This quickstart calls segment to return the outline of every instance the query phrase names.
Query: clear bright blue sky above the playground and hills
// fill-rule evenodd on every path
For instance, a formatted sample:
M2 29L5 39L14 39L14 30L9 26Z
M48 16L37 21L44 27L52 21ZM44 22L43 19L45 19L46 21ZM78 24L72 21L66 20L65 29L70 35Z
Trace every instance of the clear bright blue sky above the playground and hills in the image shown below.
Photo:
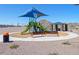
M19 17L36 8L47 14L38 18L38 21L46 19L50 22L79 23L79 6L71 4L0 4L0 24L27 24L29 19Z

